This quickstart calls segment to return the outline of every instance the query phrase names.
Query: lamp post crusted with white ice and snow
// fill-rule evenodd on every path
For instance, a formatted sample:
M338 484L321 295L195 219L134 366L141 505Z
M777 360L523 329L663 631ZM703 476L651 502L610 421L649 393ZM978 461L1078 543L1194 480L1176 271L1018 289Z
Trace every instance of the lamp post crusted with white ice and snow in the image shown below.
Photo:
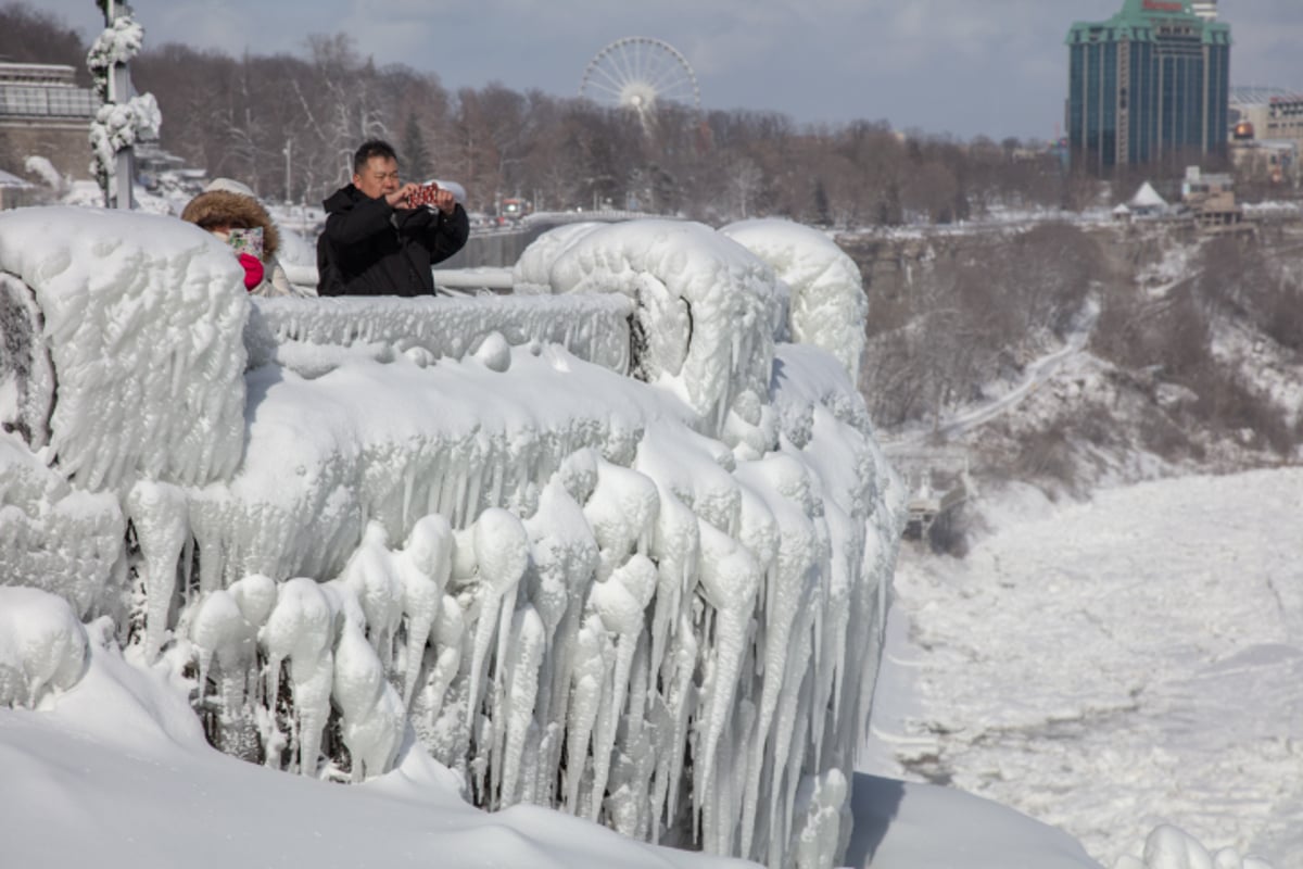
M145 40L145 29L136 23L132 9L116 0L95 0L104 13L104 31L86 55L102 106L90 125L94 159L90 171L104 190L104 202L116 208L132 207L132 180L136 176L133 146L158 138L158 103L152 94L132 95L126 64ZM124 181L125 178L125 181Z

